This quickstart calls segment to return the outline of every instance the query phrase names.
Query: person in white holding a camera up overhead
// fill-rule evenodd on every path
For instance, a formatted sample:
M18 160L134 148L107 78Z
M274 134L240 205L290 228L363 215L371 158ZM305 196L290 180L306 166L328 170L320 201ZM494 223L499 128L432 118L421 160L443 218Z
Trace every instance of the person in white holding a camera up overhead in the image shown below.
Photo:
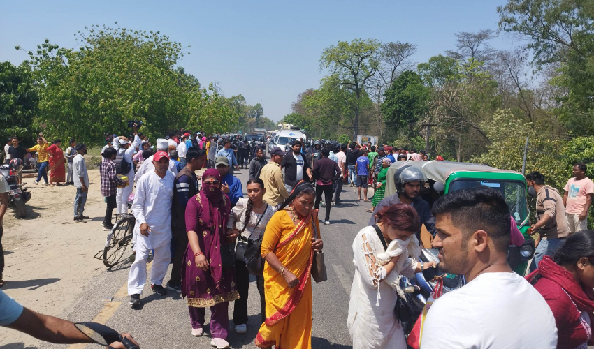
M116 165L118 165L119 162L119 168L121 169L119 170L118 174L127 176L129 183L134 182L134 168L132 166L132 156L134 155L134 151L136 151L136 148L140 146L140 138L138 138L138 124L134 122L132 126L132 129L134 131L134 142L119 139L119 150L117 151L116 156ZM128 198L132 193L133 188L134 186L117 188L115 204L117 207L118 214L125 214L128 211Z

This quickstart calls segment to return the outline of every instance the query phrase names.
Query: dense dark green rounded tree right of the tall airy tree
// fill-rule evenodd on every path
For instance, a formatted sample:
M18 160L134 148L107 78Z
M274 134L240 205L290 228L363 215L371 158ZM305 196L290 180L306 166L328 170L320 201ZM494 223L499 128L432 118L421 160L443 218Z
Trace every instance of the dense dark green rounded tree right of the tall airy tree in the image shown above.
M408 127L412 135L413 126L428 110L429 89L423 84L421 76L412 70L400 74L384 94L382 114L386 125L396 133Z

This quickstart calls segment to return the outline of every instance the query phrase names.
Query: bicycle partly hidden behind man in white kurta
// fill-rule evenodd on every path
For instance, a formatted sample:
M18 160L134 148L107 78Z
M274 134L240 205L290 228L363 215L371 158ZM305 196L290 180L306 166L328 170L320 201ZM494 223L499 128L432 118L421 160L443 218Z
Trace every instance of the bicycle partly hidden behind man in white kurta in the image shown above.
M108 268L115 267L120 263L128 245L132 242L134 225L136 225L136 218L133 214L116 214L115 219L116 223L107 236L105 247L94 256L94 258L103 260L103 264ZM102 258L99 257L101 254ZM134 255L132 254L129 259L133 262Z

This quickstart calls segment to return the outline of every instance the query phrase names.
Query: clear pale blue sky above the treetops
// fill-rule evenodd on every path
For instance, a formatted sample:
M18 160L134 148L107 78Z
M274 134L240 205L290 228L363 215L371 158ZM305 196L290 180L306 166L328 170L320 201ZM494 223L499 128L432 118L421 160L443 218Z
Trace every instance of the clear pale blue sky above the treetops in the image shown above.
M73 34L91 24L161 31L190 45L181 66L201 84L219 82L225 96L261 103L280 120L300 92L319 87L322 50L339 40L375 38L418 45L413 60L454 49L454 33L497 29L505 0L451 1L3 1L0 61L27 59L48 38L76 45ZM514 45L500 34L493 47Z

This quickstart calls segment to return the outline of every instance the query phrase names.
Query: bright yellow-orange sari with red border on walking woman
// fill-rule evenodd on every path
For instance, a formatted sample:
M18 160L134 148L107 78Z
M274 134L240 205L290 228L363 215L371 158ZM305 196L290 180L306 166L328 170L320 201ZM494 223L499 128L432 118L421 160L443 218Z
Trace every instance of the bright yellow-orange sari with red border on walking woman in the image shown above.
M312 210L312 215L297 225L291 221L289 212L278 211L266 225L262 256L275 253L299 283L289 288L284 278L265 263L266 322L256 336L256 346L260 348L312 348L312 220L319 232L317 210Z

